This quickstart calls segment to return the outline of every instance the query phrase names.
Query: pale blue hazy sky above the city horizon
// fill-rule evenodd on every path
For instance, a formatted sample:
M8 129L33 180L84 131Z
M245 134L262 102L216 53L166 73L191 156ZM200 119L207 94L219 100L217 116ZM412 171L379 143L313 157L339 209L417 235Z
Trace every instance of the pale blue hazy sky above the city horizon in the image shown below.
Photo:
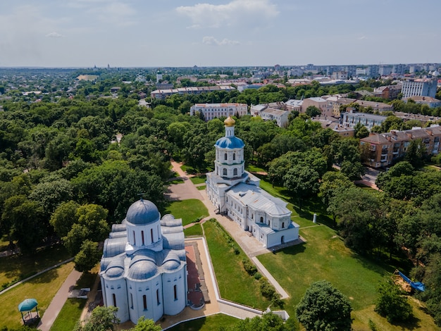
M440 0L1 0L0 67L441 62Z

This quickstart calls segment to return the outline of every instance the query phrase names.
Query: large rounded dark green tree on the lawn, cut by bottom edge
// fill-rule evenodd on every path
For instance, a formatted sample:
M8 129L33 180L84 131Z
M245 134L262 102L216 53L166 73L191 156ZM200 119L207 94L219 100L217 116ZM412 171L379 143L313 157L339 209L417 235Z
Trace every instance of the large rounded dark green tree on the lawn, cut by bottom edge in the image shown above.
M330 282L313 282L296 307L297 320L306 330L352 330L352 307Z

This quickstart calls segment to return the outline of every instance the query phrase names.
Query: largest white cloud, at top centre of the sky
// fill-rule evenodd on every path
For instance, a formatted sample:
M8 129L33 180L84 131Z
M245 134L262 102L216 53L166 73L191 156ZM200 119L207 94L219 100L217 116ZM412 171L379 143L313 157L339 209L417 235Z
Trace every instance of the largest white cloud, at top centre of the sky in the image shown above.
M195 4L180 6L176 11L192 20L191 27L261 25L278 15L271 0L233 0L228 4Z

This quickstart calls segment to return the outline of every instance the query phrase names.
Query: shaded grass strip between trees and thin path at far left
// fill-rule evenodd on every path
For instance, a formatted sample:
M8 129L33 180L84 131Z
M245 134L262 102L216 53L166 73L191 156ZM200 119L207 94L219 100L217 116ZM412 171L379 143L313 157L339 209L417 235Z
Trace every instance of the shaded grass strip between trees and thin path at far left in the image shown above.
M41 270L70 258L62 244L38 249L32 255L11 255L0 260L0 285L23 280Z

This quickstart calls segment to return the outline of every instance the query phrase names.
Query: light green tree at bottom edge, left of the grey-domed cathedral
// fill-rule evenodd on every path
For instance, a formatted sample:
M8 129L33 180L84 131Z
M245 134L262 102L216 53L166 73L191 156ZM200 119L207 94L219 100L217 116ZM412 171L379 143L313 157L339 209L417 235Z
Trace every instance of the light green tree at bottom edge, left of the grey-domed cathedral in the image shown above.
M115 316L117 311L118 308L114 306L98 306L94 308L85 325L78 323L74 331L114 331L114 324L120 322Z

